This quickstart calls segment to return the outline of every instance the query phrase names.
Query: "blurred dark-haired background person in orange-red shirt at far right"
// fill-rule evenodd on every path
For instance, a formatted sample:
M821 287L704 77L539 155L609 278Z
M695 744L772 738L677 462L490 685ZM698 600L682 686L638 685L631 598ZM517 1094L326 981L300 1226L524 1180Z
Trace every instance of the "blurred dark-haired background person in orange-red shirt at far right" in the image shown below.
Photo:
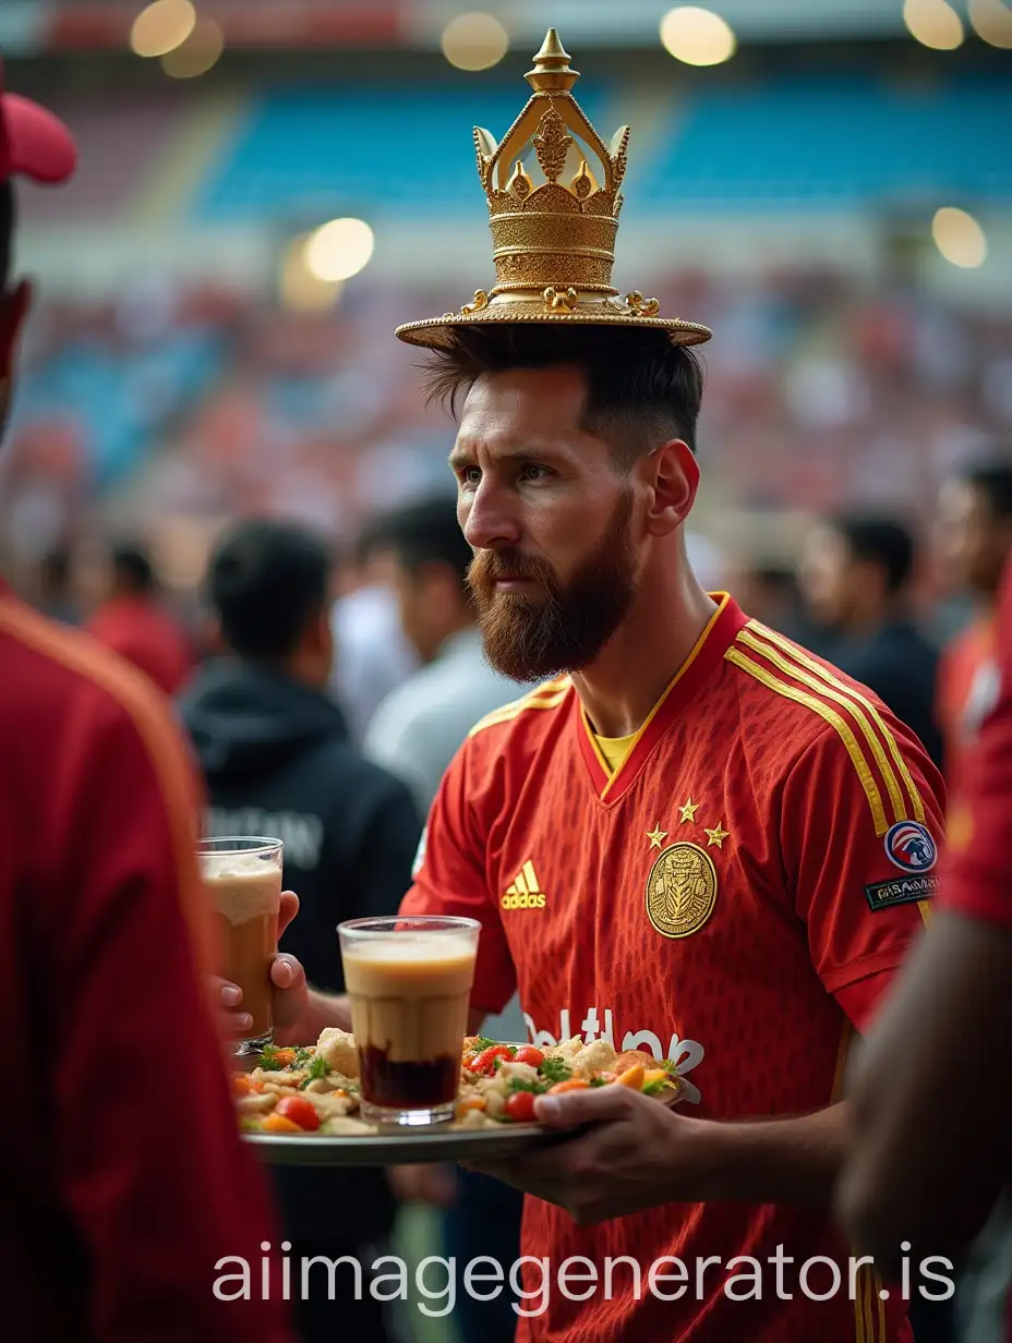
M935 717L954 796L981 706L993 689L995 608L1012 553L1012 461L974 463L945 481L938 496L938 548L946 576L977 603L969 623L942 650L938 667Z

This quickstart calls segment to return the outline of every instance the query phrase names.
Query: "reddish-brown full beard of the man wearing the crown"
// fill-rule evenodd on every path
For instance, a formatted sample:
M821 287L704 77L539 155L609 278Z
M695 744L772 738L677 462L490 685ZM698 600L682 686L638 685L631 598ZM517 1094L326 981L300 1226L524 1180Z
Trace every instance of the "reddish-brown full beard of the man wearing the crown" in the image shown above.
M591 663L636 596L637 556L629 533L632 490L607 530L562 584L546 560L515 549L480 551L468 571L485 657L513 681L544 681ZM504 579L534 579L538 592L497 592Z

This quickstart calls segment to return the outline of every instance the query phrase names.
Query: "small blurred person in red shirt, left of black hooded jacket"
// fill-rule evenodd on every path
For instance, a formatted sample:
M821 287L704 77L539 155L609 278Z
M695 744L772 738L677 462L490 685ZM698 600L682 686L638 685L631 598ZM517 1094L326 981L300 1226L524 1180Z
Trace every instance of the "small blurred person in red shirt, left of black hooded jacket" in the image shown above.
M113 547L109 596L85 629L145 672L165 694L176 694L194 667L191 643L161 604L155 567L140 545Z

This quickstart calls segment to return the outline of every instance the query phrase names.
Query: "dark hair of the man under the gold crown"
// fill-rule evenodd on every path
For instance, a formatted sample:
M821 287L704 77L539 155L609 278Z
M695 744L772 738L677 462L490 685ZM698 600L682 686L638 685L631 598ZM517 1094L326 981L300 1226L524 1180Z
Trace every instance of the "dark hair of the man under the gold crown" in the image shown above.
M564 364L583 369L583 427L610 443L620 467L628 470L669 438L696 450L703 371L695 353L672 345L663 330L523 322L457 328L453 346L434 351L426 365L427 399L456 414L460 393L484 373Z

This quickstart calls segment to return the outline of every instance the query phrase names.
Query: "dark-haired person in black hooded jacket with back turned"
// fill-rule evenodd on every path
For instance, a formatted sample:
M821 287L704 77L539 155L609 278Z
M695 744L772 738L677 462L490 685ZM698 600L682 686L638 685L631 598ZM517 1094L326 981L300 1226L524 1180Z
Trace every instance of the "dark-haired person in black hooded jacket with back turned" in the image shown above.
M411 884L422 821L407 787L348 740L325 693L333 659L331 559L312 533L245 520L215 545L206 580L224 655L179 701L208 795L208 834L284 841L285 885L300 913L281 950L310 982L344 988L337 924L395 913ZM314 1268L301 1296L300 1256L351 1254L363 1269L390 1234L395 1197L382 1170L280 1167L276 1189L292 1241L293 1297L305 1343L349 1328L383 1343L382 1307L353 1300L351 1269ZM317 1275L316 1279L313 1275Z

